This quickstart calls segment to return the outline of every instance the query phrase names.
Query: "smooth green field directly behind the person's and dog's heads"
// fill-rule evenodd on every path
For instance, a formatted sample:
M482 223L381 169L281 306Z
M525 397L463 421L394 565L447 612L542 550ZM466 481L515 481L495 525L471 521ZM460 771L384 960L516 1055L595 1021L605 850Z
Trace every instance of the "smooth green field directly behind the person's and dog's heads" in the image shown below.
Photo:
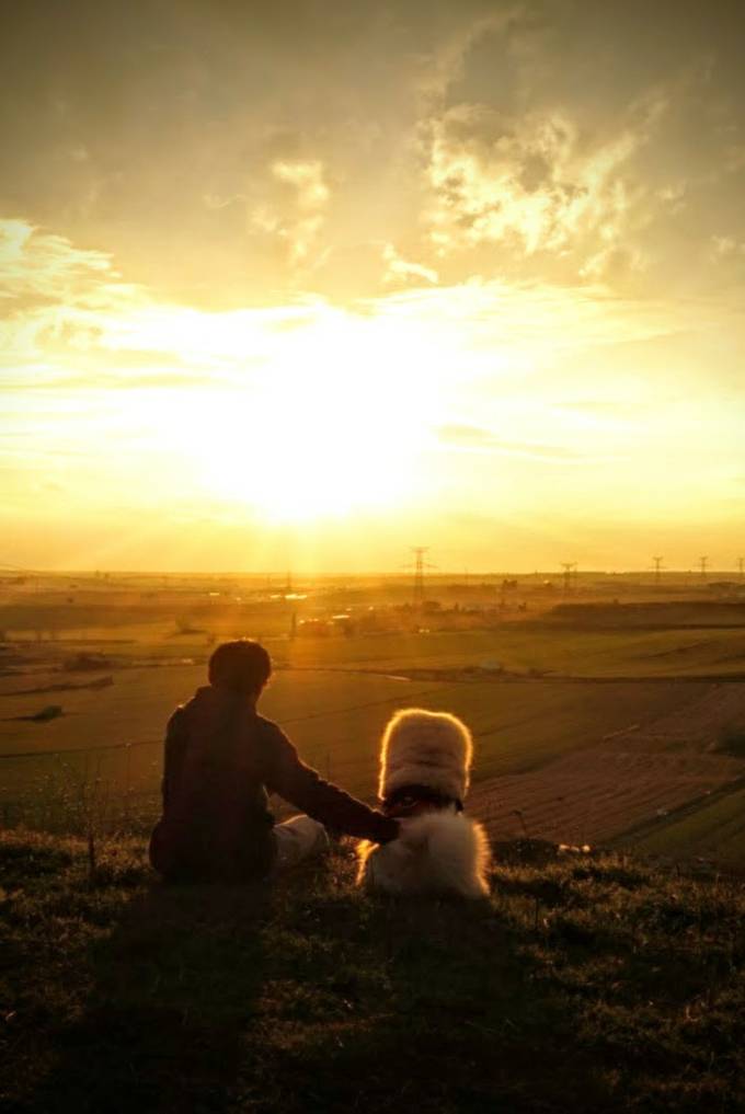
M164 725L177 703L204 680L203 666L128 670L102 690L0 697L2 752L75 751L136 743L130 751L102 751L99 773L137 791L157 785ZM696 691L698 683L693 686ZM604 734L661 713L679 687L639 683L581 685L561 681L427 682L380 674L281 671L262 700L305 759L352 792L371 797L382 729L396 707L424 705L463 717L478 736L474 779L533 769ZM690 695L690 694L688 694ZM65 714L49 723L13 722L50 701ZM139 745L151 741L151 745ZM92 755L91 755L92 761ZM29 756L0 766L4 795L45 776L50 760ZM128 766L128 769L127 769Z

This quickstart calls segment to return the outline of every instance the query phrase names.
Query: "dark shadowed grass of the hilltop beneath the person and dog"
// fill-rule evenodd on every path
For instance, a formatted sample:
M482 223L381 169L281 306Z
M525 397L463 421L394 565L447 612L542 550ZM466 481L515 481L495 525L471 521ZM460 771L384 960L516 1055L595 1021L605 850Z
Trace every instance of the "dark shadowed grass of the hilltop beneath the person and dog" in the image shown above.
M166 888L119 842L91 883L22 832L0 866L2 1111L745 1108L734 882L510 848L491 901L402 902L342 844L272 890Z

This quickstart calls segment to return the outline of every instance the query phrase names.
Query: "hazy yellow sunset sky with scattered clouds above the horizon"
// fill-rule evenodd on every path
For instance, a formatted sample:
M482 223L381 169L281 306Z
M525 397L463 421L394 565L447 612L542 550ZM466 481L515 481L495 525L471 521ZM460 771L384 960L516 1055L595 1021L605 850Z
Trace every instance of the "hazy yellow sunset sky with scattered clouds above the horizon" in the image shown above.
M745 551L745 6L27 2L0 563Z

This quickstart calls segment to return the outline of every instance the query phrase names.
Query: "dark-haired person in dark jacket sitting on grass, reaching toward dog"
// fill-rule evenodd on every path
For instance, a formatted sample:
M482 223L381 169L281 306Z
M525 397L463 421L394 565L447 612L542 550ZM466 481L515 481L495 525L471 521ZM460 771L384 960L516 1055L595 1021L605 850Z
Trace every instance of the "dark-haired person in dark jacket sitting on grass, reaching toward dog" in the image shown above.
M324 781L276 723L256 712L272 673L257 642L226 642L209 684L177 707L166 733L163 815L150 862L168 881L248 881L320 854L324 825L386 843L398 821ZM305 815L275 824L267 792Z

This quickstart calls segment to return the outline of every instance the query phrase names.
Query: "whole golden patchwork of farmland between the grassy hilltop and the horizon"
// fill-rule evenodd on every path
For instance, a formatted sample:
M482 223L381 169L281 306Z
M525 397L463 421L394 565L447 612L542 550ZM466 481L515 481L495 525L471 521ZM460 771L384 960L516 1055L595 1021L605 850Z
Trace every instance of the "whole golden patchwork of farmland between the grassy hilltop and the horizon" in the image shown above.
M32 600L12 606L17 619L24 613L32 622ZM728 858L735 853L729 832L738 798L721 824L719 812L706 809L700 822L668 822L682 802L700 798L705 805L707 790L718 792L745 769L737 759L723 766L714 758L726 731L745 723L745 628L721 626L721 610L712 612L709 627L695 629L643 628L638 606L626 626L624 609L611 608L619 617L612 628L578 625L571 609L439 628L445 619L463 622L463 613L451 610L420 616L419 629L295 638L283 633L290 612L282 603L241 605L219 622L203 607L215 620L199 625L200 613L194 629L178 627L177 593L157 615L150 610L124 590L108 607L47 600L36 622L50 624L53 638L0 644L0 752L26 755L0 758L6 824L63 829L71 802L92 784L112 802L112 814L124 810L127 823L151 824L168 715L204 683L215 641L248 635L265 639L276 666L264 714L285 727L306 761L366 800L374 797L386 720L419 704L454 712L474 733L474 808L489 823L503 799L499 824L525 812L537 834L572 840L581 828L589 839L595 829L602 838L621 836L628 800L629 834L646 824L645 846L658 841L693 854L721 843ZM678 610L686 618L685 605ZM700 604L694 610L700 619ZM84 618L99 626L84 632ZM70 671L80 653L105 659L99 670ZM102 677L110 678L107 687L86 687ZM29 719L52 704L61 706L59 717ZM605 813L612 821L601 822Z

